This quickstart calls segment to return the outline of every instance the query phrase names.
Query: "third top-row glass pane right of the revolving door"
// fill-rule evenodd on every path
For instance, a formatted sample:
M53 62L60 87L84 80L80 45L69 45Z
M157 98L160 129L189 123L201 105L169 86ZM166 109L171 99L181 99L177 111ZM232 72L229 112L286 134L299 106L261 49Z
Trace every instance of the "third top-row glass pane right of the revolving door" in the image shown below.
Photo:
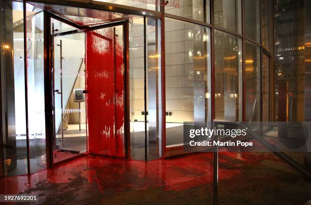
M260 0L244 1L245 36L260 42Z

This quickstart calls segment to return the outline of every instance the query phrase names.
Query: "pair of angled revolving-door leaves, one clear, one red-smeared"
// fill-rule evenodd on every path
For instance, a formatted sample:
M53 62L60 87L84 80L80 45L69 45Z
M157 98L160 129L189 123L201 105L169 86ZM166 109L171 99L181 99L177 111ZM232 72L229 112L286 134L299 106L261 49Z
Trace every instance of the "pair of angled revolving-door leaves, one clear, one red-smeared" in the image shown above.
M81 30L55 18L53 163L86 151L126 157L124 22Z

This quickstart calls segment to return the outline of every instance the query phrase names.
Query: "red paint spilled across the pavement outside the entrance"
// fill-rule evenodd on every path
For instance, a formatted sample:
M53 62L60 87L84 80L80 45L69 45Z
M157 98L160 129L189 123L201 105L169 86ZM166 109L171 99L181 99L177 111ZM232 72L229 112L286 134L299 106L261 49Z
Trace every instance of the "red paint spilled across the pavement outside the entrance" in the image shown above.
M252 166L269 153L220 152L219 179L242 174L245 163ZM135 161L112 157L82 156L50 170L30 176L0 179L1 194L38 194L40 201L58 202L110 196L127 191L166 186L183 190L212 183L213 153L194 153L168 159Z

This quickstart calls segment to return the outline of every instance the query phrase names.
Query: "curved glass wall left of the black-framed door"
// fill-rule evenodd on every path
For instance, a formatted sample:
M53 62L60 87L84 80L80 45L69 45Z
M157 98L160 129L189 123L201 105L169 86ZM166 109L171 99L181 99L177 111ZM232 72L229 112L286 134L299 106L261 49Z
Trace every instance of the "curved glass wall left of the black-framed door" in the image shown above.
M3 150L4 175L21 175L28 171L35 173L46 168L43 11L26 4L24 24L22 2L1 1L1 7L1 23L7 31L2 35L4 39L1 39L1 43L4 44L1 48L5 49L1 52L1 70L6 73L2 74L1 79L2 88L5 89L2 90L2 94L5 94L2 95L2 110L4 113L9 111L8 114L2 115L7 118L7 122L3 121L1 139L7 147Z

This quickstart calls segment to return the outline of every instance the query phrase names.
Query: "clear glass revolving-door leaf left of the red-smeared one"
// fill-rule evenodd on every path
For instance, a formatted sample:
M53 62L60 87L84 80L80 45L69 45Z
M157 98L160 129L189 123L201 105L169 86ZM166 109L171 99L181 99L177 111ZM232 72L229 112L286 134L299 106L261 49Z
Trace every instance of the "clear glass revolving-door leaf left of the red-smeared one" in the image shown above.
M53 162L87 150L85 33L51 19L53 76Z

